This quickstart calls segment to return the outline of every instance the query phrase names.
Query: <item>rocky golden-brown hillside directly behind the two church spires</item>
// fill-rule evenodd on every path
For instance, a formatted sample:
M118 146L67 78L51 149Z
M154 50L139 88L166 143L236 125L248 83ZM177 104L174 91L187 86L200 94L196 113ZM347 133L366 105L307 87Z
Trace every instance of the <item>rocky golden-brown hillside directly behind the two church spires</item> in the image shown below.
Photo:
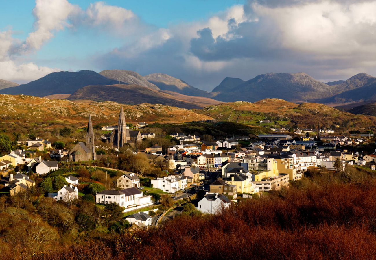
M116 102L76 103L27 95L0 95L3 122L69 122L85 124L89 114L96 124L115 124L120 107L129 122L191 122L209 119L193 111L162 104L121 105Z

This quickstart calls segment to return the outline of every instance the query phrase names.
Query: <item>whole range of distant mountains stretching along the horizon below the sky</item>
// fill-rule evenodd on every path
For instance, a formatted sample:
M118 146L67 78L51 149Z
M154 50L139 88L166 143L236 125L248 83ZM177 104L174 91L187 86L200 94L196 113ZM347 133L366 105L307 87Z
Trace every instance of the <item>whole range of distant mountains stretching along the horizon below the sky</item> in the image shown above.
M6 84L4 86L9 86ZM267 73L247 81L226 77L211 92L195 88L167 74L141 76L126 70L104 70L100 73L62 71L27 84L11 85L1 89L0 82L0 94L50 96L71 100L111 100L128 104L150 102L188 109L220 102L255 102L264 98L324 104L363 101L370 103L376 100L376 78L366 73L356 74L348 80L327 83L315 80L306 73ZM70 97L67 97L68 95Z

